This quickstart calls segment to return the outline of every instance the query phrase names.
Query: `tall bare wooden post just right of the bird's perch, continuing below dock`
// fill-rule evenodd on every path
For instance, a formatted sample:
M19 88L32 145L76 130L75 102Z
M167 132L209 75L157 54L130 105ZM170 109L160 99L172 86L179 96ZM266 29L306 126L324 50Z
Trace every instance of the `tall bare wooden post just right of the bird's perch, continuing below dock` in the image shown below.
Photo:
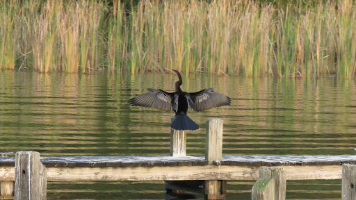
M223 120L207 120L205 160L209 165L219 165L223 158ZM205 199L224 199L227 181L207 180L204 183Z

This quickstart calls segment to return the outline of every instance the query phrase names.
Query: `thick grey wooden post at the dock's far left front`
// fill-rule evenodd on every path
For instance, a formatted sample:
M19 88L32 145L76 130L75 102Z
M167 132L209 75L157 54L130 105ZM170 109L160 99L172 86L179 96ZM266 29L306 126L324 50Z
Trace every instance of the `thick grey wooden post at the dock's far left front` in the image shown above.
M40 153L17 151L15 156L15 200L47 199L47 169Z

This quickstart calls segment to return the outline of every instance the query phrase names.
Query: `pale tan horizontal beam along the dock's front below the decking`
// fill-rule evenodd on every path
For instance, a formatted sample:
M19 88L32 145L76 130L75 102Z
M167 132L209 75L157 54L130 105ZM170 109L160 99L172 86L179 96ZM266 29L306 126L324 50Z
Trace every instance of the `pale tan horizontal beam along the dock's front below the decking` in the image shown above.
M342 171L341 165L283 168L286 180L341 179ZM254 166L47 167L48 181L257 180L258 176L259 167ZM0 167L0 177L14 181L15 167Z

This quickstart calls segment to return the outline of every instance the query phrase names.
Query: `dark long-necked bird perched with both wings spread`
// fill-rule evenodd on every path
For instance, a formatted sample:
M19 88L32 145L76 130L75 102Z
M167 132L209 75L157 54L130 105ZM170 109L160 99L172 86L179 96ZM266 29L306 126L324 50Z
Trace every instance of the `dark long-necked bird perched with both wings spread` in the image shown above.
M175 82L175 92L165 92L148 88L148 93L140 94L129 100L131 106L157 108L166 112L175 111L175 120L170 127L177 131L195 131L199 128L191 118L186 115L188 108L196 112L210 108L230 105L231 99L224 94L214 92L213 88L199 92L184 92L181 90L181 74L175 69L169 69L177 74L179 81Z

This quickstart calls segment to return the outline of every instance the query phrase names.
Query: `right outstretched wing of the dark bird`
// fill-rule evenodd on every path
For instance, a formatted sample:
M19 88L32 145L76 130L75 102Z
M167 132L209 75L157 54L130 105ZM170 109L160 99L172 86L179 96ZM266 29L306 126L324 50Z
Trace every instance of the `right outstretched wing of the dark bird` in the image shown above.
M224 94L214 92L213 88L204 89L199 92L189 93L191 100L193 101L193 110L203 111L210 108L228 106L231 103L231 99Z

